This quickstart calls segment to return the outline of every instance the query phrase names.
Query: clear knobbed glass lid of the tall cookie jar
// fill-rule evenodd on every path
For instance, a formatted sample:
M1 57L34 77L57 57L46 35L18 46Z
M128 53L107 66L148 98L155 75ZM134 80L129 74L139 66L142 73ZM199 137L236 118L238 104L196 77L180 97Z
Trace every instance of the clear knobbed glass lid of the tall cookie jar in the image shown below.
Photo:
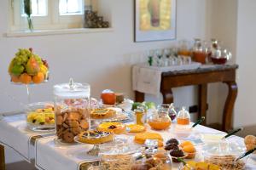
M63 99L90 98L90 85L74 82L73 78L70 78L68 83L56 84L54 94Z

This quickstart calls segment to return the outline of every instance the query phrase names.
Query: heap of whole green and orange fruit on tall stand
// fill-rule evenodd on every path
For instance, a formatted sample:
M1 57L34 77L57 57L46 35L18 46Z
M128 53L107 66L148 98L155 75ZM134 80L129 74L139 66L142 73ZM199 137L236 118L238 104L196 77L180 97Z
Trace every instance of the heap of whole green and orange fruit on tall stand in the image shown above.
M32 48L20 48L9 64L11 82L15 84L39 84L49 80L49 65L34 54Z

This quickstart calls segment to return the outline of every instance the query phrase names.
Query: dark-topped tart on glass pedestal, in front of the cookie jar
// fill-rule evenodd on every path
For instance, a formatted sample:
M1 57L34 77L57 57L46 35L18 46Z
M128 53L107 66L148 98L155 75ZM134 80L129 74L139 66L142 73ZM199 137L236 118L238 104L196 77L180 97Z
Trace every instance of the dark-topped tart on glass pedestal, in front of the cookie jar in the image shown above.
M113 140L113 133L88 130L79 133L78 140L85 144L103 144Z

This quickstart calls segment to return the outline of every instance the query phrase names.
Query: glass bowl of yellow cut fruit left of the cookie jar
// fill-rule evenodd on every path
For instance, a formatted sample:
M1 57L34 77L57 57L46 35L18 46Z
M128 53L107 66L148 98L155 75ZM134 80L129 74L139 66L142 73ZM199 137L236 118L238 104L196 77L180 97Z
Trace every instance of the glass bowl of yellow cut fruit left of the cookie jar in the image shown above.
M54 106L51 102L38 102L26 106L26 123L32 131L55 129Z

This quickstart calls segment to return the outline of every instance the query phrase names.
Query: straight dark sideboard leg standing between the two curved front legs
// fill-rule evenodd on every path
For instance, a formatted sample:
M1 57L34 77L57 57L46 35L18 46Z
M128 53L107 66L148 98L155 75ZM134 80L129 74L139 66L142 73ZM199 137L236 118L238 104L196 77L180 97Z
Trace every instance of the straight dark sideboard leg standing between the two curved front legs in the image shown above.
M198 96L198 118L205 116L206 120L201 123L201 125L207 124L207 84L199 85L199 96Z

